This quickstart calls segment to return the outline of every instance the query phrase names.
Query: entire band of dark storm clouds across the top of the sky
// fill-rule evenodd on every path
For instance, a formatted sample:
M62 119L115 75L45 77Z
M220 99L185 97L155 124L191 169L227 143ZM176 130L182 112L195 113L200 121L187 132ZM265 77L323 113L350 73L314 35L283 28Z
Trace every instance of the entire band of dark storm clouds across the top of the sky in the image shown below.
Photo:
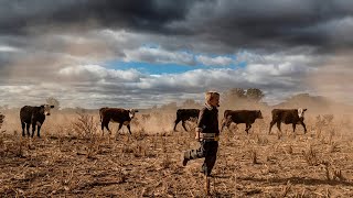
M165 43L167 48L197 48L181 41L192 38L224 52L301 45L328 50L352 46L352 13L353 2L344 0L1 1L0 34L127 29L183 36L172 46ZM346 26L343 35L333 33Z

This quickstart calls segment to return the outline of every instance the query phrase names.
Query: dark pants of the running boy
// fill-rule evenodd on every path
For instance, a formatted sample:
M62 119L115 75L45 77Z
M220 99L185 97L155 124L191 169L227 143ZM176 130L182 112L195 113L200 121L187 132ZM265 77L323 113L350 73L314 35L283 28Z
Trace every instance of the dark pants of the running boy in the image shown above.
M201 141L197 150L190 150L184 153L186 160L203 158L205 161L202 165L202 172L210 176L214 164L216 163L218 151L217 141Z

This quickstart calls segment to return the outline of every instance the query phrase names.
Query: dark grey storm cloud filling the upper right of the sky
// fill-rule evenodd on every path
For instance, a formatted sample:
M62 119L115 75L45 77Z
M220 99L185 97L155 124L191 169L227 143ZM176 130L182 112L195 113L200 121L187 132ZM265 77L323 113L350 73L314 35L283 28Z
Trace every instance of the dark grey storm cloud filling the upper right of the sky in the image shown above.
M340 47L353 40L342 41L332 32L347 25L335 26L352 16L352 8L351 1L223 0L196 6L185 26L194 26L204 40L243 48Z

